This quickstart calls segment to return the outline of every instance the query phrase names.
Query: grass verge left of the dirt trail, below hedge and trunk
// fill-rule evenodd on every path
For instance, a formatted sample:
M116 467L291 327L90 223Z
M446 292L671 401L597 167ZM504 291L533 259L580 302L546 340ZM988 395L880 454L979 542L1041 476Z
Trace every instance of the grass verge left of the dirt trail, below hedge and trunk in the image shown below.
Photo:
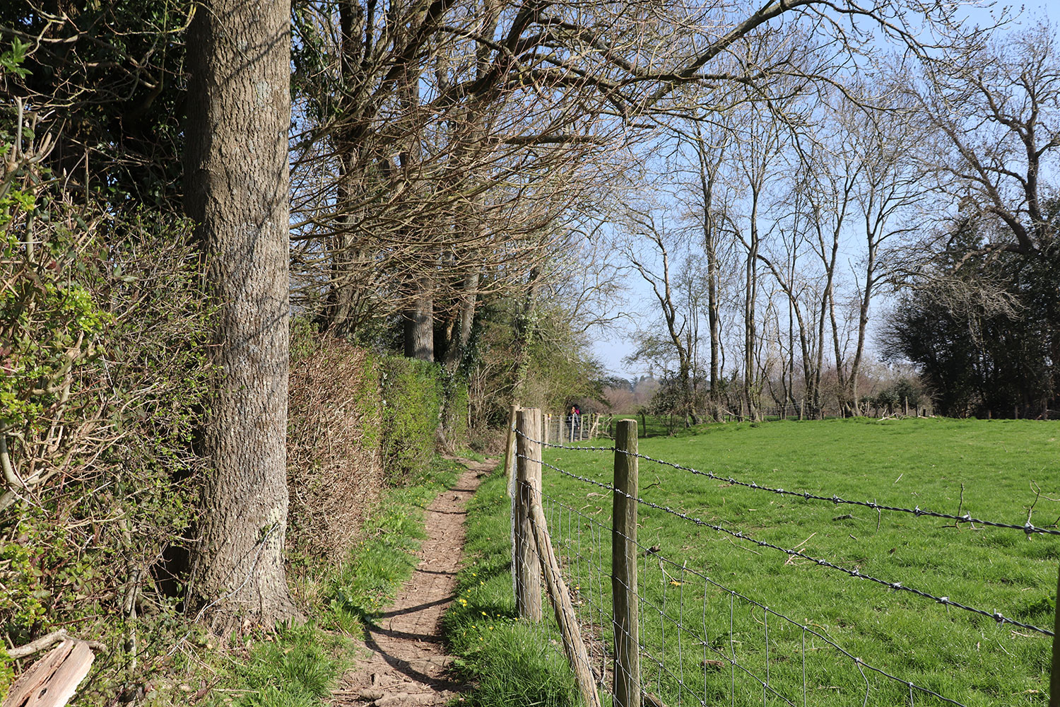
M462 466L437 459L410 487L385 494L365 524L364 540L338 566L299 563L288 575L307 622L252 633L218 647L194 633L174 651L172 670L145 704L204 707L316 707L331 694L356 652L354 639L416 567L424 512Z

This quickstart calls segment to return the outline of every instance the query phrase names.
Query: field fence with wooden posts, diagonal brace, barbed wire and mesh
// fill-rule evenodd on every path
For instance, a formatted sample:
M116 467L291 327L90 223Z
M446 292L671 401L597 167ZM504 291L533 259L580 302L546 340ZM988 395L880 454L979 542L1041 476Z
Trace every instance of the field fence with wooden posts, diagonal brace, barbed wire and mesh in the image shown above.
M1053 626L1035 625L993 607L973 606L917 586L862 572L856 565L848 567L837 561L814 556L798 546L784 548L641 497L643 490L638 482L638 470L641 460L651 461L762 494L797 496L805 501L833 506L853 505L870 509L878 515L929 516L957 525L979 525L1027 535L1056 536L1060 535L1060 529L1035 526L1029 514L1026 523L1017 525L972 517L960 514L959 510L951 514L919 506L902 508L876 500L850 500L837 495L759 485L641 454L635 420L617 421L613 445L597 446L578 444L578 437L571 441L549 434L549 418L537 409L513 406L511 410L506 471L512 499L513 590L519 617L541 622L544 584L562 637L563 652L582 700L589 707L601 704L601 693L613 707L736 705L738 681L743 686L741 694L746 694L748 684L760 690L763 706L805 706L810 704L808 685L822 678L814 674L819 668L813 665L812 658L808 660L808 656L817 655L817 652L830 653L847 666L850 675L860 676L863 682L863 685L859 682L862 686L856 690L850 686L844 688L845 694L856 692L855 697L844 704L862 707L883 704L872 701L873 690L877 691L874 696L882 694L879 692L882 685L890 695L887 704L966 707L937 686L894 674L871 660L863 660L854 649L842 644L825 628L770 606L746 589L729 586L724 578L705 568L689 566L687 560L666 556L658 545L642 543L637 532L640 509L666 513L683 523L714 530L756 553L780 552L787 555L789 563L799 560L849 579L877 583L887 590L904 593L911 601L932 602L948 611L984 617L1027 637L1052 637L1048 706L1060 707L1060 614L1055 607ZM554 419L551 422L552 431L563 431L563 421L559 430ZM594 428L601 429L599 422ZM543 455L548 448L611 454L612 480L587 478L551 464ZM593 502L576 508L577 503L544 489L542 472L545 469L585 484L590 489L587 497L591 497ZM605 512L608 505L610 514ZM1060 573L1057 585L1060 594ZM737 638L746 637L752 630L760 636L760 648L748 649ZM784 655L777 652L779 642L774 637L778 635L783 635L785 644L793 647ZM825 687L838 689L827 681ZM669 702L664 702L660 694L667 695ZM900 700L896 696L899 694Z

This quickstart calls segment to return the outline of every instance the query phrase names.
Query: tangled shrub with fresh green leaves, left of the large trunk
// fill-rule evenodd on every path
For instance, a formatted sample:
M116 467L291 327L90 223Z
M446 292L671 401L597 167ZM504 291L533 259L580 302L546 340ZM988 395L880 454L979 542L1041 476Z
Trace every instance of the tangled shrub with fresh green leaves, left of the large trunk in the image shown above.
M0 636L110 644L83 697L104 702L174 632L210 310L187 223L74 201L20 137L0 166Z

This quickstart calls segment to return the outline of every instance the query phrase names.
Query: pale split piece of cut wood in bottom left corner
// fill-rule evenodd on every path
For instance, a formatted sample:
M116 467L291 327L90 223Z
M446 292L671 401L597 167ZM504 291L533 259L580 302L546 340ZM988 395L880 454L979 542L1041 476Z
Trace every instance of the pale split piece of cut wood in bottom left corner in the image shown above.
M64 640L15 681L3 707L64 707L94 659L86 641Z

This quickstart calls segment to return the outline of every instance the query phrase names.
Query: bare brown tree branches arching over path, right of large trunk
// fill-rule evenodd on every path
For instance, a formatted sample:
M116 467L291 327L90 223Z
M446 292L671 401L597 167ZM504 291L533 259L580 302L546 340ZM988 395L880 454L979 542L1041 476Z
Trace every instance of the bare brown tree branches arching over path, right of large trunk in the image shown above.
M341 334L404 312L423 342L410 339L408 351L426 356L428 330L445 332L453 366L483 294L476 283L495 269L519 287L550 257L525 248L523 236L562 225L572 202L595 195L591 176L616 172L608 143L636 140L643 117L684 110L681 87L700 86L708 105L723 107L734 87L774 75L826 79L795 60L799 42L729 58L781 35L781 17L842 48L864 39L860 19L912 41L907 13L939 15L889 0L300 3L299 302L321 308L322 323ZM538 209L524 208L534 198ZM507 267L513 250L527 259L520 268ZM443 325L427 325L439 318Z

